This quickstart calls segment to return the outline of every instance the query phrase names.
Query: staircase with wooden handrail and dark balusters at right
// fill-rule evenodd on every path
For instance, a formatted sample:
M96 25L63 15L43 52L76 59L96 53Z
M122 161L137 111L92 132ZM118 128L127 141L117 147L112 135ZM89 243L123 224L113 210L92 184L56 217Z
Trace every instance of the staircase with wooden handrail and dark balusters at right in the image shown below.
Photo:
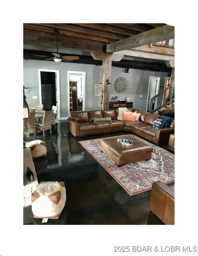
M174 110L175 109L175 89L173 85L168 86L166 89L151 98L149 112L154 113L158 110ZM161 112L161 111L159 111Z

